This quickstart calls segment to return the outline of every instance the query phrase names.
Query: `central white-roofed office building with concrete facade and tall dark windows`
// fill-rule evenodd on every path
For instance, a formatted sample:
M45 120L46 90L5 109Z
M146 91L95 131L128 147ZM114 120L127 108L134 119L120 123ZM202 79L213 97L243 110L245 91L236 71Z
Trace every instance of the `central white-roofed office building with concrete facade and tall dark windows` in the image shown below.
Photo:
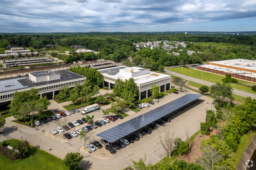
M161 92L171 88L171 76L151 72L141 67L112 67L99 70L104 77L104 86L113 88L115 81L120 78L122 81L133 78L139 89L139 99L148 98L151 95L150 89L153 84L160 86Z

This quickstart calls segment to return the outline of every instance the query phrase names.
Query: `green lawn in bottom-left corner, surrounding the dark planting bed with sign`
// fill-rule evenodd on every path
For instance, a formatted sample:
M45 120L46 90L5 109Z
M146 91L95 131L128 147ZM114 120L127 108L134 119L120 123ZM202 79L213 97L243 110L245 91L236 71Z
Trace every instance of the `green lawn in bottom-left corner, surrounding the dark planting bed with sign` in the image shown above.
M6 145L14 146L19 140L10 139L6 141ZM10 160L0 154L0 167L2 170L9 169L28 169L28 167L36 167L36 169L67 169L63 160L53 156L41 149L36 149L30 145L32 152L25 159ZM33 168L32 168L33 169ZM35 168L34 168L35 169Z

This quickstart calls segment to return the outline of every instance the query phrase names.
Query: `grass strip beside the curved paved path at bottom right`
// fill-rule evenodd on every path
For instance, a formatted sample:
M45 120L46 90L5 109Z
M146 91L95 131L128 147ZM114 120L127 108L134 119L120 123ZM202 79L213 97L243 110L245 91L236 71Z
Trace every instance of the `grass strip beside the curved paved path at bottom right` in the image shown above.
M246 147L249 145L249 143L251 142L255 134L256 134L256 127L254 126L250 132L248 132L247 134L241 137L241 141L238 145L237 151L231 154L231 158L234 159L235 161L235 168L237 168L238 163L242 155L244 154Z

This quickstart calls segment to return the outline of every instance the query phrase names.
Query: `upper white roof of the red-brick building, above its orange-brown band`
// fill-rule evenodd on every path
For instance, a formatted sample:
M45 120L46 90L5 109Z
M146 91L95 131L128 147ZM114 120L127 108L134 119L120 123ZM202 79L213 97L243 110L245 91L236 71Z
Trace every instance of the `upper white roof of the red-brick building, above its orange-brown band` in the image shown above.
M209 65L211 65L211 63L239 67L241 69L256 70L256 61L255 60L243 60L243 59L222 60L222 61L209 62Z

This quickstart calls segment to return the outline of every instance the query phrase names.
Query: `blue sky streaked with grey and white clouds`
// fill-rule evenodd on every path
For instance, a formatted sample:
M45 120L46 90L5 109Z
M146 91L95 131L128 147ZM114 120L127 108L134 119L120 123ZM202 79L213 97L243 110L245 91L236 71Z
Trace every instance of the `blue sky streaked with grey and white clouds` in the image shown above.
M0 32L256 31L255 0L1 0Z

